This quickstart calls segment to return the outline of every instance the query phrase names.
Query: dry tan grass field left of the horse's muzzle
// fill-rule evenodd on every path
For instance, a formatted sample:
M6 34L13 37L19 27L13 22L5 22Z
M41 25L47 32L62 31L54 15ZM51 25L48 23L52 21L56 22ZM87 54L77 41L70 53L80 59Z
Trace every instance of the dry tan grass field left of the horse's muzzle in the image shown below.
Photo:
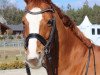
M24 59L24 47L0 47L0 62Z

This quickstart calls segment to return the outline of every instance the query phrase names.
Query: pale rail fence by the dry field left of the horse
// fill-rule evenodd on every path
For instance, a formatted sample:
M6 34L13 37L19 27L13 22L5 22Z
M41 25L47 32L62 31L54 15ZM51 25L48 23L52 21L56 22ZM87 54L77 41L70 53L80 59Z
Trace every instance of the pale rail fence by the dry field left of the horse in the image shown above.
M0 40L0 61L5 57L13 59L24 55L24 39Z

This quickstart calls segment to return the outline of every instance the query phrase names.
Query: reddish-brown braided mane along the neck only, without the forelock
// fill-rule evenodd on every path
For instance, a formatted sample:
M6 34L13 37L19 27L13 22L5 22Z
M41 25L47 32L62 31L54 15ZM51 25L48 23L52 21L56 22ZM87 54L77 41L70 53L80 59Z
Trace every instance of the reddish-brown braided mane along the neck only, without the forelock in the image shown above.
M91 47L92 43L90 39L86 38L84 34L78 29L76 23L71 20L67 15L65 15L59 7L51 2L52 7L57 11L59 17L62 19L63 24L65 27L70 27L72 32L87 46Z

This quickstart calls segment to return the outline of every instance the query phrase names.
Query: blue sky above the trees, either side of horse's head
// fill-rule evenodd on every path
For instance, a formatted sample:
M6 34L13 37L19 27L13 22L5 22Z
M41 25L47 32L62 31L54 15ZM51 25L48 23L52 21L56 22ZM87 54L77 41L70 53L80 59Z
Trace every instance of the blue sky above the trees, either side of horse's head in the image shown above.
M24 9L24 0L10 0L12 3L16 3L18 8ZM67 8L67 4L71 4L72 8L80 8L83 6L86 0L52 0L57 6ZM100 5L100 0L88 0L89 6L92 7L94 4Z

